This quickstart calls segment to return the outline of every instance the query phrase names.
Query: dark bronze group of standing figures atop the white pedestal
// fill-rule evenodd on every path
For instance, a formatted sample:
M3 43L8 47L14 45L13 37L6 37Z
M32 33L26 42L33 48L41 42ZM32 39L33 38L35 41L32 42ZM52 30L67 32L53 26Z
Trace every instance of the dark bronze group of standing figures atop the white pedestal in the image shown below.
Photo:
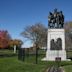
M63 28L64 26L64 15L62 11L57 11L54 9L54 12L49 12L48 16L48 26L49 28Z

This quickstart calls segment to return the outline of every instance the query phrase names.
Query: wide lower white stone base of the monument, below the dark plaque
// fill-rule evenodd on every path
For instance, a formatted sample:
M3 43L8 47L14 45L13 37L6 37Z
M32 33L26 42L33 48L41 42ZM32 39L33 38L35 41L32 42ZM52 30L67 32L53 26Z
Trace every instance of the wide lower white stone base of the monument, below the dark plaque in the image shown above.
M55 50L46 52L46 57L42 59L42 61L56 61L56 58L60 58L61 61L66 61L66 51L64 50Z

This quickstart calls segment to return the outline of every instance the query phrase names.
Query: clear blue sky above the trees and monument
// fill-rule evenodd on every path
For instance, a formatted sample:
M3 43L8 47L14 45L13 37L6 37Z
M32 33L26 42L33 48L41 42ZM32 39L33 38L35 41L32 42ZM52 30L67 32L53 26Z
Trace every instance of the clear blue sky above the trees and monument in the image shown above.
M72 0L0 0L0 30L24 41L20 35L24 28L35 23L48 26L48 13L55 8L63 11L65 21L72 21Z

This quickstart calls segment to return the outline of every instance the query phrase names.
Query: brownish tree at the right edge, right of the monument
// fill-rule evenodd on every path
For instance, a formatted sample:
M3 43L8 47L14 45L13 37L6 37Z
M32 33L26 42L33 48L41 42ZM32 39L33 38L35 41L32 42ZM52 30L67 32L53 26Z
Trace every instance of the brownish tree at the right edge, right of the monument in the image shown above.
M66 49L72 49L72 22L65 23Z

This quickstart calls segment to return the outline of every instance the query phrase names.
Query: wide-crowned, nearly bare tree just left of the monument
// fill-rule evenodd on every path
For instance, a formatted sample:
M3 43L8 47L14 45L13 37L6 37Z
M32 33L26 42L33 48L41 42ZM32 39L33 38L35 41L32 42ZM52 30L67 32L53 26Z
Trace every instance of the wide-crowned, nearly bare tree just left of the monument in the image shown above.
M21 35L31 40L34 45L37 44L39 47L46 46L47 44L47 28L41 23L27 26Z

